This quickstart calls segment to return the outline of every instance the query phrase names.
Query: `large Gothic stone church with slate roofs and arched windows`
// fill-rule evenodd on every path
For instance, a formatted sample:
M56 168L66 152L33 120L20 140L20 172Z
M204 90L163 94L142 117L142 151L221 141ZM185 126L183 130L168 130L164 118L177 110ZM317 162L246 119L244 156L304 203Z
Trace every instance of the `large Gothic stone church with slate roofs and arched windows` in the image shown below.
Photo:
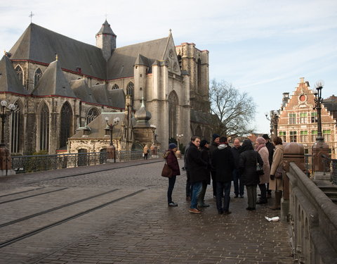
M147 143L166 149L177 134L183 144L192 134L210 139L209 51L175 46L171 30L168 37L117 47L107 20L95 38L93 46L31 23L5 52L0 100L16 106L6 109L4 126L12 154L76 152L83 147L70 150L69 139L98 134L102 142L86 148L101 151L109 145L105 118L111 123L117 115L113 137L121 150Z

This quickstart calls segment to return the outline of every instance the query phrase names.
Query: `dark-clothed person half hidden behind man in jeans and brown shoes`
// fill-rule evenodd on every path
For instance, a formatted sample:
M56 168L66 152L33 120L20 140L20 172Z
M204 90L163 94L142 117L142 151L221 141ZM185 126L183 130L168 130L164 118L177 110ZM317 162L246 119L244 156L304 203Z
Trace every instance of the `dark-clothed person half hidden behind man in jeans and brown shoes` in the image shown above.
M209 204L205 203L205 194L207 185L211 184L211 161L209 159L209 142L206 139L201 140L200 142L200 151L201 158L208 163L207 168L204 169L204 173L206 175L206 180L202 181L202 187L198 198L198 208L209 207Z

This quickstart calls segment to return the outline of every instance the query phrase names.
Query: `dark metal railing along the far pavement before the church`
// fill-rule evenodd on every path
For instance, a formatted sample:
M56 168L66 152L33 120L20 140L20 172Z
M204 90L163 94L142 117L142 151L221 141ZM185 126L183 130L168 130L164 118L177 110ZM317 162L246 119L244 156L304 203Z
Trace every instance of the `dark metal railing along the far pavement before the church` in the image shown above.
M143 158L143 151L116 151L117 162ZM148 158L151 158L149 153ZM12 169L16 173L57 170L107 163L107 152L70 153L55 155L12 156Z

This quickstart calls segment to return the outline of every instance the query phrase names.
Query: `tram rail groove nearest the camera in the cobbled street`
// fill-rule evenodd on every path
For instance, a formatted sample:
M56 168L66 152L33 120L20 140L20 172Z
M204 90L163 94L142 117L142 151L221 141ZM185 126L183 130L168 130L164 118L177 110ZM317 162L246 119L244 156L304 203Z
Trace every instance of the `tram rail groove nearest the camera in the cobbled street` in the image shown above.
M135 191L135 192L133 192L133 193L131 193L131 194L128 194L128 195L126 195L126 196L122 196L122 197L120 197L120 198L114 199L114 200L109 201L109 202L107 202L107 203L103 203L103 204L101 204L100 206L95 206L95 207L90 208L90 209L88 209L88 210L84 210L84 211L81 212L81 213L77 213L77 214L72 215L72 216L70 216L70 217L67 217L67 218L64 218L64 219L62 219L62 220L53 222L53 223L51 223L51 224L49 224L49 225L45 225L44 227L40 227L40 228L38 228L37 230L33 230L33 231L31 231L31 232L27 232L27 233L25 233L25 234L22 234L22 235L20 235L20 236L18 236L18 237L13 238L13 239L8 239L8 240L6 240L6 241L0 243L0 249L4 248L4 247L6 247L6 246L9 246L9 245L11 245L11 244L13 244L13 243L15 243L15 242L18 242L18 241L21 241L21 240L23 240L23 239L26 239L27 237L32 237L32 236L34 236L35 234L39 234L39 233L41 233L41 232L43 232L43 231L45 231L45 230L51 229L52 227L56 227L56 226L58 226L58 225L62 225L63 223L68 222L68 221L70 221L70 220L73 220L73 219L75 219L75 218L79 218L79 217L82 216L82 215L86 215L86 214L91 213L91 212L93 212L93 211L95 211L95 210L98 210L98 209L100 209L100 208L104 208L105 206L109 206L109 205L112 204L112 203L117 203L118 201L124 200L124 199L126 199L126 198L128 198L128 197L135 196L136 194L140 194L140 193L143 192L143 191L145 191L145 189L140 189L139 191Z

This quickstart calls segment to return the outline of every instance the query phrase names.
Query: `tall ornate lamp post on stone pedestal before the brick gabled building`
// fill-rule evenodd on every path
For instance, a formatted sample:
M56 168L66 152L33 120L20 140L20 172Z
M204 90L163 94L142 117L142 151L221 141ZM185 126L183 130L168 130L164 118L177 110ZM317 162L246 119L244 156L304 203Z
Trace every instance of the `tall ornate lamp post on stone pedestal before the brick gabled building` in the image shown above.
M317 110L317 137L315 144L312 145L312 172L324 172L324 161L322 155L329 156L329 145L324 142L324 137L322 135L322 89L324 86L323 81L318 81L315 84L316 91L315 95L315 107Z

